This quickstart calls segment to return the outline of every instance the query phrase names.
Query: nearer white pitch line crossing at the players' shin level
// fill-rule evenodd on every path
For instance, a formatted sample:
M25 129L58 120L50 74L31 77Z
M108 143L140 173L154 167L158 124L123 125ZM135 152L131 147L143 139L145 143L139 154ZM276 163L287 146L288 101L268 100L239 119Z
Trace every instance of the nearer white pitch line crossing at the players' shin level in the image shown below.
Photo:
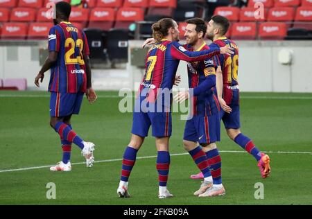
M246 153L243 150L219 150L219 152L222 153ZM304 154L304 155L312 155L312 152L306 152L306 151L263 151L268 154ZM247 154L247 153L246 153ZM189 155L189 153L180 153L180 154L171 154L170 156L180 156L180 155ZM148 159L148 158L156 158L157 156L146 156L146 157L137 157L137 159ZM104 159L100 161L95 161L95 163L107 163L107 162L113 162L113 161L122 161L123 159ZM78 165L78 164L85 164L85 162L79 162L79 163L73 163L71 165ZM27 167L27 168L17 168L17 169L9 169L9 170L0 170L0 173L6 173L6 172L15 172L15 171L21 171L21 170L35 170L35 169L42 169L42 168L49 168L55 164L47 165L47 166L33 166L33 167Z

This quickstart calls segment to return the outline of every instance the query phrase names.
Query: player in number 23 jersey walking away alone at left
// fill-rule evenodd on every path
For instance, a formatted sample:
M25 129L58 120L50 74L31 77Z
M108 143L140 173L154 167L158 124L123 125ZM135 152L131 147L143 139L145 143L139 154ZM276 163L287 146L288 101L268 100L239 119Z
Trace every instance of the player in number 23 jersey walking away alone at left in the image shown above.
M89 103L94 103L97 96L91 85L89 67L89 47L85 33L69 23L71 6L60 1L55 4L56 18L49 31L49 57L35 78L44 79L44 72L51 69L49 82L50 125L60 134L62 143L62 161L50 168L51 171L70 171L71 143L75 143L86 159L87 167L94 163L94 143L81 139L71 128L71 115L78 114L87 94Z

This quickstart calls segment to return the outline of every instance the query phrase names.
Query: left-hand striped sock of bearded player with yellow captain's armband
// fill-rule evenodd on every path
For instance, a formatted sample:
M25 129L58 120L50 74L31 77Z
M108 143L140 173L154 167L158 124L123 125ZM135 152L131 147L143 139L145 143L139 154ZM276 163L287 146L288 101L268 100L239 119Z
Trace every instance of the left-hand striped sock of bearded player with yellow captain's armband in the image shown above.
M204 175L204 177L205 178L210 177L211 173L209 170L209 164L208 164L207 156L206 156L205 152L202 150L202 148L200 146L197 146L197 148L190 150L189 154L191 155L191 157L195 161L195 164L198 166L200 171L202 171L202 174Z

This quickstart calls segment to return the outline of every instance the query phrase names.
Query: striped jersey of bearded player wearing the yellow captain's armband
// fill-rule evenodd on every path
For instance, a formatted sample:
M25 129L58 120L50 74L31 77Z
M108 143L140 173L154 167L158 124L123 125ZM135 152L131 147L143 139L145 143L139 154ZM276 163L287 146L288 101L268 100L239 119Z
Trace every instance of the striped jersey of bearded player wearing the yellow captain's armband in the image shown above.
M189 44L184 45L188 51L193 51L193 47ZM209 48L205 42L196 51L203 51ZM193 115L207 115L217 114L220 111L218 97L216 95L216 60L215 57L208 58L200 62L187 62L187 73L189 76L189 88L193 89L191 100L193 105ZM211 82L204 85L207 80ZM205 86L196 94L199 86Z

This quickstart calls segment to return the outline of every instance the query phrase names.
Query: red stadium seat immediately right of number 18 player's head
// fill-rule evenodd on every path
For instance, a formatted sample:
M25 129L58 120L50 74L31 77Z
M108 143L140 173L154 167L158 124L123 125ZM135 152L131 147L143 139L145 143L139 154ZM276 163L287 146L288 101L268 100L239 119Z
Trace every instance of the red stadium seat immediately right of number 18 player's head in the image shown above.
M232 27L231 39L233 40L255 40L256 39L256 23L241 22L235 23Z

